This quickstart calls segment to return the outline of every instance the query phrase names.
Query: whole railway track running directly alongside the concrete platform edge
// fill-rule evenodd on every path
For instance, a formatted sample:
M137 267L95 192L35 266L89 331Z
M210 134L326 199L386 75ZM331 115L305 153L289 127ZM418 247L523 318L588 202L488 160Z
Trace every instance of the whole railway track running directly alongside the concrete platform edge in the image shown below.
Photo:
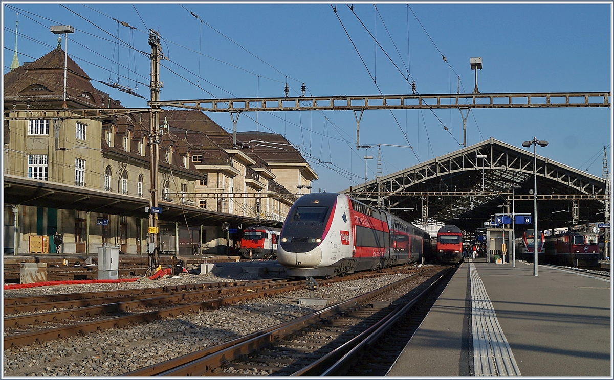
M452 272L450 267L433 267L281 325L124 376L317 376L383 335L418 298L441 291L445 284L433 284L447 282L441 278L451 278ZM347 358L343 363L349 363Z

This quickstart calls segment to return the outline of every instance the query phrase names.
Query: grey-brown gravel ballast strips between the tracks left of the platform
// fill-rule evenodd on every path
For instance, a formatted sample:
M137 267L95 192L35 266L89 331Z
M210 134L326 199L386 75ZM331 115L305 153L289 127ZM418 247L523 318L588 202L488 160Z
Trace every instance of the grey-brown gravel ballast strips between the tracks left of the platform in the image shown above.
M328 304L332 305L407 276L409 275L388 275L321 286L316 292L316 297L328 298ZM84 284L15 289L5 291L4 296L21 297L258 278L252 273L238 273L233 277L219 278L213 273L185 274L179 278L166 278L155 283ZM4 376L117 376L215 346L324 307L298 305L298 298L309 298L309 291L303 289L224 306L216 310L201 310L198 313L169 317L147 324L71 336L30 346L6 348L3 374Z

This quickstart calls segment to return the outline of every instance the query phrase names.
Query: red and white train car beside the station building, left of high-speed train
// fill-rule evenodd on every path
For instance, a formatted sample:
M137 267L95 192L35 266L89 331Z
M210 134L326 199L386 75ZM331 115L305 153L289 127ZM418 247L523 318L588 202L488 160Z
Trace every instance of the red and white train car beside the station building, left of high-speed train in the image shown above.
M271 259L277 255L281 229L251 226L243 231L239 253L243 259Z

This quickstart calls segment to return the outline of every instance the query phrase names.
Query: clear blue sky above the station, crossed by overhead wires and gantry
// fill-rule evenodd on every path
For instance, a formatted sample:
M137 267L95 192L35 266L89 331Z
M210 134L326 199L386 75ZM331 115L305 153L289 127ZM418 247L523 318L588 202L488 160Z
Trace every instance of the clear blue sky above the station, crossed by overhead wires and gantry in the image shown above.
M483 70L478 73L481 93L611 91L610 5L423 3L408 7L403 3L376 4L375 8L372 3L354 4L356 15L403 74L376 48L345 4L336 4L337 15L360 56L325 3L70 2L62 6L4 2L2 53L6 73L15 44L15 13L20 13L20 64L56 47L57 36L49 31L50 25L74 26L69 55L96 87L125 107L146 107L146 101L96 81L119 79L120 85L130 88L136 88L135 80L149 84L149 57L139 52L149 54L149 28L160 32L163 53L169 58L161 69L163 100L283 96L286 82L290 96L300 94L303 82L314 96L376 95L378 87L383 94L405 94L411 93L404 77L408 72L421 94L456 93L457 75L461 93L471 93L474 74L469 58L475 56L483 58ZM118 35L113 18L136 29L120 25ZM136 52L118 43L117 36ZM144 84L135 91L149 97ZM231 131L227 113L208 116ZM368 178L375 175L377 148L356 150L352 112L246 113L237 127L238 131L283 134L300 145L320 177L313 183L315 191L341 191L363 183L363 156L375 157L368 162ZM580 170L588 168L600 177L600 152L610 144L611 131L611 108L472 110L467 144L494 137L521 146L537 137L550 142L538 154ZM413 146L413 150L381 147L386 175L461 148L461 114L458 110L367 111L360 123L360 143ZM608 161L612 164L611 157Z

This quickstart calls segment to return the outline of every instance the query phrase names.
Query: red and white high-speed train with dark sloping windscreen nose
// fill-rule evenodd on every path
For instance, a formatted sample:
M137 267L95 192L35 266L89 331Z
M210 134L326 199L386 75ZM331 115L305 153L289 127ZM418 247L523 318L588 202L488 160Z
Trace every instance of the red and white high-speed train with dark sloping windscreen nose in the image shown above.
M290 276L335 276L415 262L426 233L344 194L301 196L286 217L277 259Z

